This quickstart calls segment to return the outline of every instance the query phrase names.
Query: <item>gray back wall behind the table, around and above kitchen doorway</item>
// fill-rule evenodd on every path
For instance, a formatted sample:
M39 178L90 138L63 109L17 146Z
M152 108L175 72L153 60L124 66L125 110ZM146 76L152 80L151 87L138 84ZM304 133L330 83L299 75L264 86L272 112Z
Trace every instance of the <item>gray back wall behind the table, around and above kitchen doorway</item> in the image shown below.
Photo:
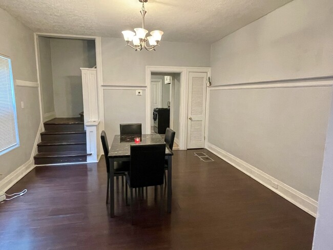
M145 66L208 67L210 64L209 45L162 42L151 52L136 52L125 45L123 39L101 40L103 85L124 88L103 90L105 129L110 138L119 134L119 123L142 123L142 131L146 131L146 93L136 96L135 90L126 89L126 86L145 86Z

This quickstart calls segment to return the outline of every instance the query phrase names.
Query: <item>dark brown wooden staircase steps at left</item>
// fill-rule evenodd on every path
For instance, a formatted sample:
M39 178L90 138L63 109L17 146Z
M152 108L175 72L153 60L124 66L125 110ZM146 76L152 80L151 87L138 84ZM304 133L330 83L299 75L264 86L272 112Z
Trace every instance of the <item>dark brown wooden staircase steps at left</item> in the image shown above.
M82 116L81 116L82 117ZM54 118L44 123L37 144L36 165L87 161L87 143L84 121L81 117Z

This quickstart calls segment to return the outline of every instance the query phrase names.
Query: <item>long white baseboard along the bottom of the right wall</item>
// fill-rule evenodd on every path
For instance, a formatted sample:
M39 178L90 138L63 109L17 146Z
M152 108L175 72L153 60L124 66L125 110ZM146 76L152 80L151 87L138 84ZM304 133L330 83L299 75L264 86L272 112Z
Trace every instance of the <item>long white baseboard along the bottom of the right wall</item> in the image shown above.
M287 184L275 179L274 177L267 175L261 170L256 169L254 166L242 161L241 159L223 151L222 149L216 147L215 145L207 142L207 150L211 151L213 154L217 155L221 159L235 166L246 175L252 177L256 181L260 182L268 189L282 196L286 200L292 202L300 209L304 210L308 214L316 217L318 202L310 197L302 194L301 192L293 189Z

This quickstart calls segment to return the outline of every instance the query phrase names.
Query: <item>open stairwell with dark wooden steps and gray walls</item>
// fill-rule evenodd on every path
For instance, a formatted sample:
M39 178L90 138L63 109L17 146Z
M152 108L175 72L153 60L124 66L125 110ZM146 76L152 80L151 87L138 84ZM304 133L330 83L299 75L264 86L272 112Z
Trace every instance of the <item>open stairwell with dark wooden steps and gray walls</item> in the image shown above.
M35 34L41 119L44 122L34 156L35 164L96 162L96 135L93 138L92 133L87 133L88 126L84 122L81 73L82 68L90 68L95 75L100 72L96 67L96 39Z

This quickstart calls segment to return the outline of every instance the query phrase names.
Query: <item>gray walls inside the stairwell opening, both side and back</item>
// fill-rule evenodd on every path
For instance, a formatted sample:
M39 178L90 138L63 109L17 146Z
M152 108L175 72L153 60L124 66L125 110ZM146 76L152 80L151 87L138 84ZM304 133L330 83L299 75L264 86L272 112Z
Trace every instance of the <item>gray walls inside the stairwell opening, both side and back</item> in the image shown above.
M84 110L80 68L96 66L95 40L38 36L43 121Z

